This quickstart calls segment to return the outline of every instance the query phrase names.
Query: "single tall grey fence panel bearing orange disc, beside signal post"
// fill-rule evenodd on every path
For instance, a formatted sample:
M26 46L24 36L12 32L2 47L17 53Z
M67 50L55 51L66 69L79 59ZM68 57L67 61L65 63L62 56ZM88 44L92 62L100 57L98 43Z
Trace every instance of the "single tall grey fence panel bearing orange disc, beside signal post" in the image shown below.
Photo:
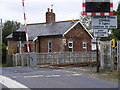
M100 65L103 70L112 70L110 41L100 41Z

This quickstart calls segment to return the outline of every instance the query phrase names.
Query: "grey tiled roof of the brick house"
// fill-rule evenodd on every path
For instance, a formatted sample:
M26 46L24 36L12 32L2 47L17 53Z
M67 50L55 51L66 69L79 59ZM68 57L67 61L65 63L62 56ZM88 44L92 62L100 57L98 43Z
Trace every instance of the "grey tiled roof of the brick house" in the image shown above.
M55 23L36 23L28 24L28 37L29 40L34 40L38 36L53 36L63 35L69 28L71 28L77 21L63 21ZM17 31L24 31L24 26L21 26ZM12 38L12 34L6 38Z

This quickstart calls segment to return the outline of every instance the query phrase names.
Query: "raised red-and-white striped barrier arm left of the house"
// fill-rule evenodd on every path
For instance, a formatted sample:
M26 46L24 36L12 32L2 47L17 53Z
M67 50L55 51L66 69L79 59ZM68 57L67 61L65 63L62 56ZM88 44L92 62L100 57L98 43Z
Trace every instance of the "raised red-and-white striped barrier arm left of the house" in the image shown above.
M30 52L29 40L28 40L28 28L27 28L27 24L26 24L26 14L25 14L25 4L24 4L24 1L25 0L22 0L23 13L24 13L24 29L25 29L25 33L26 33L27 52Z

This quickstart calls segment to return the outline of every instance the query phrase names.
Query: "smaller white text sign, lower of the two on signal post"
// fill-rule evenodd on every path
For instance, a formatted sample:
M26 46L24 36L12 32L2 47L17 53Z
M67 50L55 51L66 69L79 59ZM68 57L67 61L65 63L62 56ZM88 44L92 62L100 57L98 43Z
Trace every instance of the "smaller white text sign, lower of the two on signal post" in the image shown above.
M94 29L94 37L108 37L108 29Z

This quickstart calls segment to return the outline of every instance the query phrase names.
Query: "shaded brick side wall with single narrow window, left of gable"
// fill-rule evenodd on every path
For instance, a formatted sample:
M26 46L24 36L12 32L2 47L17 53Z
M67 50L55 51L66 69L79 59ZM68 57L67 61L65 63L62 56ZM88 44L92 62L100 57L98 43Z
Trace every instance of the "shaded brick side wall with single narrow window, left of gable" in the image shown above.
M62 51L62 36L39 37L37 52L48 52L48 42L52 43L52 52Z

